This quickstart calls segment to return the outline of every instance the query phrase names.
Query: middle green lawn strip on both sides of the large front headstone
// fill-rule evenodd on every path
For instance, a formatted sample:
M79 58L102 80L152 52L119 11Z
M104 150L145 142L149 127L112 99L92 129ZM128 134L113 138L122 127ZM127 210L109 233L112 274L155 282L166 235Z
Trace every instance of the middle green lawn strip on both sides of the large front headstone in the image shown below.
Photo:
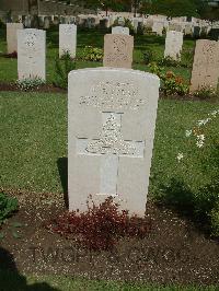
M150 193L177 175L185 130L219 103L159 102ZM57 162L67 156L67 95L0 93L0 185L36 193L62 193ZM219 125L216 131L219 130ZM195 175L195 166L194 166ZM200 186L205 176L186 177Z

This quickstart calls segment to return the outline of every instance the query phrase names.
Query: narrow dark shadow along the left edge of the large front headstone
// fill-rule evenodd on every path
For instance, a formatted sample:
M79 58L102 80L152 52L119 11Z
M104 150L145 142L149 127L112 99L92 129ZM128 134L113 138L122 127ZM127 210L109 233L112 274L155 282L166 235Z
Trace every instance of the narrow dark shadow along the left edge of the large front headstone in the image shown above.
M59 176L61 179L61 186L64 189L64 200L65 205L68 208L69 201L68 201L68 158L59 158L57 160L57 166L58 166L58 172Z

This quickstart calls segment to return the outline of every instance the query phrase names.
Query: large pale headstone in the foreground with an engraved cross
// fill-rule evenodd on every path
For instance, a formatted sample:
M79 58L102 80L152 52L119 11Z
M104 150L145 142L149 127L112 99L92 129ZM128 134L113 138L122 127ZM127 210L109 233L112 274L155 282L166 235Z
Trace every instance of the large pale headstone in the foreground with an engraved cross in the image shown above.
M146 210L160 81L129 69L71 71L68 89L70 210L114 197L120 209Z

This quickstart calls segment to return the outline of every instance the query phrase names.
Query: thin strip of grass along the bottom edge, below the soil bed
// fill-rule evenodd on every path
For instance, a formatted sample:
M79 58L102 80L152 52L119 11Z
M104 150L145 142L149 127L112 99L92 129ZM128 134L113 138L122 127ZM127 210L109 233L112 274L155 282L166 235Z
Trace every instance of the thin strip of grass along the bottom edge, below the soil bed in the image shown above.
M115 282L101 280L76 279L61 276L22 276L19 273L0 271L0 290L1 291L217 291L218 287L175 287L175 286L158 286L131 282ZM16 287L14 289L14 287Z

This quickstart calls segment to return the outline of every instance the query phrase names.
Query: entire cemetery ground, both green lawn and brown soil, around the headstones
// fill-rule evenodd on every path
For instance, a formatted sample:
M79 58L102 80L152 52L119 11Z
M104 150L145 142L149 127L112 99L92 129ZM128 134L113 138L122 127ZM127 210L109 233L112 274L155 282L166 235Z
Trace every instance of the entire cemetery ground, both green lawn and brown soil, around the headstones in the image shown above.
M78 54L87 45L103 47L103 35L79 32ZM58 32L47 32L47 79L51 84ZM135 42L134 69L148 70L141 54L146 47L155 51L154 58L162 58L163 37L137 36ZM186 68L165 70L188 81L192 61L187 57L194 40L185 40L184 46ZM0 50L5 53L5 40L0 43ZM77 60L77 68L97 66L101 62ZM4 85L16 80L16 59L0 56L0 80ZM19 211L0 232L0 258L10 269L0 271L0 290L14 290L14 284L16 290L25 290L26 283L33 286L32 290L218 290L218 240L189 213L153 202L161 185L180 176L183 163L176 158L181 151L186 154L185 131L218 104L217 98L159 101L147 205L151 230L141 240L122 238L112 252L96 253L45 228L45 222L66 210L66 92L1 91L1 190L19 199ZM215 124L215 132L218 129ZM184 171L191 188L206 185L209 177L197 164L192 171Z

